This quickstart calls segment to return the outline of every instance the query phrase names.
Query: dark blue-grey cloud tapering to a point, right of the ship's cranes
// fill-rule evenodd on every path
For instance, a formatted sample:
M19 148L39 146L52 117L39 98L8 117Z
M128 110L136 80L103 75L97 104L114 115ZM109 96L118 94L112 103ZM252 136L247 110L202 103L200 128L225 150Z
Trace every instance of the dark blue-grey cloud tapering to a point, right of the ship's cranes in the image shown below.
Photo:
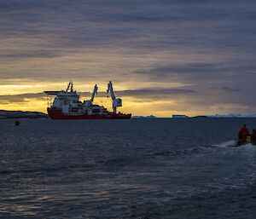
M143 75L144 78L151 78L154 81L183 82L190 84L195 90L224 89L228 92L244 90L256 91L253 83L256 79L256 66L237 65L236 63L186 63L167 66L155 66L148 70L132 72ZM230 89L232 87L232 89Z

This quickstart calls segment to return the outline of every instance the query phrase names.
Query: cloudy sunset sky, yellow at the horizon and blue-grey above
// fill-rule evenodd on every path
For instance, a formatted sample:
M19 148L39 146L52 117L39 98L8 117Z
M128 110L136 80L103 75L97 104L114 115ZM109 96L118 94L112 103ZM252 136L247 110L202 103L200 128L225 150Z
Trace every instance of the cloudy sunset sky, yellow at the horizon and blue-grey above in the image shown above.
M46 112L70 80L95 103L172 117L256 112L254 0L1 0L0 109ZM110 108L108 108L110 110Z

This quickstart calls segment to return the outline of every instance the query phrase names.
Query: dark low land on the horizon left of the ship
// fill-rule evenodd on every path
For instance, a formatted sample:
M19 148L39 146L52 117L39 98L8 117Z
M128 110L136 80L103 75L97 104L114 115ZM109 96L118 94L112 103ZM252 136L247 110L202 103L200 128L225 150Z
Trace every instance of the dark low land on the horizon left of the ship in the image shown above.
M0 118L48 118L43 112L0 110Z

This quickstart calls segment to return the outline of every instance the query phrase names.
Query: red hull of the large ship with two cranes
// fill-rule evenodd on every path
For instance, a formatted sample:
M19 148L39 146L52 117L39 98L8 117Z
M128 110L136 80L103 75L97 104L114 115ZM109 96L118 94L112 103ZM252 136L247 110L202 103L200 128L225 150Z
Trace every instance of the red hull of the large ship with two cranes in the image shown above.
M94 115L63 115L63 113L56 108L47 108L49 118L52 119L118 119L118 118L131 118L131 114L115 114L109 112L105 115L94 114Z

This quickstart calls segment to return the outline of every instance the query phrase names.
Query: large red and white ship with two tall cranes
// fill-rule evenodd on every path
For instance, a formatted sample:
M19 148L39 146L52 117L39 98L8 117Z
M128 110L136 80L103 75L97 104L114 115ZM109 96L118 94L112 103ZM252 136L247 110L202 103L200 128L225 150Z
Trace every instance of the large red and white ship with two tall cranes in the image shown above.
M113 93L113 84L108 83L107 94L112 97L113 112L107 108L93 104L97 94L97 85L95 85L91 98L88 101L79 101L80 95L73 90L73 82L67 85L66 90L61 91L44 91L47 95L49 118L52 119L118 119L131 118L130 114L116 112L117 107L122 107L122 99L116 98ZM54 101L53 96L55 96Z

